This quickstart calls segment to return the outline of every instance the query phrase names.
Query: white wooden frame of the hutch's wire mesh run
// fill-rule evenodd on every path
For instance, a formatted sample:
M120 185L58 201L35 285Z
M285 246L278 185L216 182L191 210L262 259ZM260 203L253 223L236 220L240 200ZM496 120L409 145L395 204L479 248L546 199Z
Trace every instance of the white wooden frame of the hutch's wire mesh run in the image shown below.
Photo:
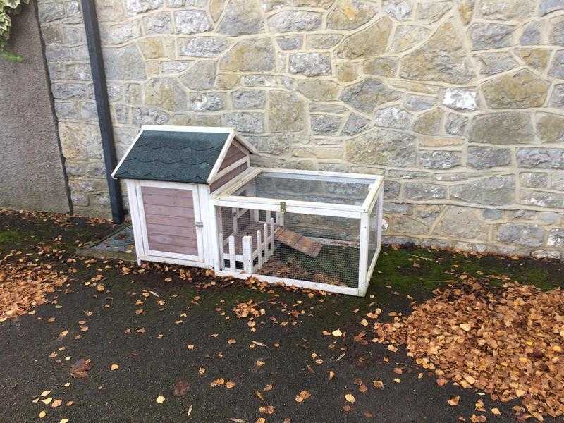
M272 198L259 198L259 197L243 197L238 195L240 190L247 185L250 181L255 179L259 174L265 174L271 177L279 176L281 178L295 178L295 179L308 179L308 180L327 180L334 182L349 182L349 183L367 183L369 184L369 192L367 197L364 199L362 205L348 205L348 204L336 204L336 203L324 203L324 202L307 202L300 200L284 200L272 199ZM312 281L302 281L298 279L289 278L279 278L276 276L267 276L255 273L260 264L257 266L252 266L252 262L245 265L244 269L238 270L231 267L231 269L223 269L223 257L229 256L228 253L224 253L221 250L221 260L219 266L216 266L216 274L219 276L231 276L235 278L248 278L250 276L258 278L260 281L265 281L268 283L283 284L288 286L298 286L302 288L326 290L336 293L343 293L348 295L359 295L364 296L372 273L374 271L374 266L376 265L376 260L379 256L380 245L381 245L381 216L382 216L382 204L384 200L384 177L376 175L364 175L361 173L338 173L338 172L320 172L320 171L298 171L293 169L273 169L273 168L249 168L245 173L241 173L238 178L227 183L219 190L216 190L212 195L210 195L211 207L215 210L216 207L235 207L243 209L252 210L265 210L266 212L276 212L277 221L278 216L283 216L281 214L281 202L285 202L286 212L289 213L300 213L300 214L317 214L321 216L337 216L345 218L360 219L360 242L359 242L359 271L358 271L358 286L357 288L348 286L337 286L328 283L317 283ZM369 216L372 213L372 209L378 207L377 212L377 222L376 225L376 252L373 257L368 257L369 248ZM215 216L215 212L214 212ZM220 239L216 236L216 239ZM223 238L221 238L223 239ZM231 242L232 244L233 242ZM222 246L223 247L223 246ZM248 255L249 240L243 240L243 252L241 257L233 257L235 260L238 258L245 259L245 252ZM231 250L231 248L230 248ZM260 251L260 245L257 246L257 250ZM254 259L255 252L252 252L252 257ZM370 263L368 260L370 259Z

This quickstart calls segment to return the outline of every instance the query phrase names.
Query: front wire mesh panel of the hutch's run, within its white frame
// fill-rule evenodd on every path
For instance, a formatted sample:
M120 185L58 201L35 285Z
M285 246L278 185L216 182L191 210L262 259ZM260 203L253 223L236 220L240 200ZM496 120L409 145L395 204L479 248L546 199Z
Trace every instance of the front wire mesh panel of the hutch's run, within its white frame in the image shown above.
M358 287L360 219L218 209L223 269Z

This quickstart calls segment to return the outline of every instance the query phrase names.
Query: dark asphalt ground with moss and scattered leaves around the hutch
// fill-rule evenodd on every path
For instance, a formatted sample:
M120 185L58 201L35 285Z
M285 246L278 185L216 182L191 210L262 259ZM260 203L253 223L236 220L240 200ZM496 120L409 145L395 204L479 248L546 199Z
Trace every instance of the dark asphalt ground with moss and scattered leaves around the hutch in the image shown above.
M259 417L293 423L455 422L470 421L480 399L486 412L476 414L488 422L513 422L516 403L498 403L453 384L437 386L405 351L392 353L372 343L372 331L360 321L376 307L385 319L391 319L389 312L408 313L412 301L429 298L433 289L464 272L479 278L505 274L544 289L562 280L559 262L386 248L367 296L353 298L259 290L197 269L188 269L192 280L180 278L176 268L150 266L139 273L137 266L116 259L75 256L84 243L114 229L84 219L0 215L2 257L16 251L10 259L27 255L71 278L35 314L0 324L0 422L34 422L42 410L47 412L42 422L254 423ZM233 307L248 300L264 314L238 319ZM345 336L324 334L334 329ZM60 336L63 331L68 334ZM361 331L368 342L354 340ZM94 364L85 379L70 374L79 358ZM119 368L111 371L111 364ZM398 368L401 374L394 371ZM235 386L212 387L220 378ZM186 396L173 396L178 379L190 385ZM372 381L384 387L375 388ZM63 404L34 403L46 390L51 392L43 398ZM311 397L298 403L304 390ZM354 403L345 400L347 393ZM157 396L164 396L164 403L157 403ZM460 403L450 407L453 396L460 396ZM66 406L68 401L73 404ZM273 414L261 412L267 405ZM492 415L492 407L501 415Z

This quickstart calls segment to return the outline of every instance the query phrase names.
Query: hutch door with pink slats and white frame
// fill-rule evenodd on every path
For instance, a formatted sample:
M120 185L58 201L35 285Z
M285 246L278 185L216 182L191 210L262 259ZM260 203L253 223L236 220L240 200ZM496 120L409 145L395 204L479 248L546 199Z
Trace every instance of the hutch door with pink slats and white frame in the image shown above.
M204 261L197 185L139 181L145 254Z

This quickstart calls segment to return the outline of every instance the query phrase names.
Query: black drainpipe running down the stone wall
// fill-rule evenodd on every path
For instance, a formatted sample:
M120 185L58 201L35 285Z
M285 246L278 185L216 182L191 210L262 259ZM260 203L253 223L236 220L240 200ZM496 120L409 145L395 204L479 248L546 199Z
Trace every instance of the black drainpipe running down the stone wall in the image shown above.
M111 177L111 172L117 164L116 147L114 144L114 130L111 127L104 58L102 57L102 44L100 44L100 32L94 0L82 0L82 17L84 18L88 54L90 56L90 70L92 71L92 81L94 82L94 96L96 97L100 135L102 135L102 151L104 152L104 167L106 168L106 180L108 181L110 195L111 217L114 223L119 224L123 222L123 202L119 181Z

